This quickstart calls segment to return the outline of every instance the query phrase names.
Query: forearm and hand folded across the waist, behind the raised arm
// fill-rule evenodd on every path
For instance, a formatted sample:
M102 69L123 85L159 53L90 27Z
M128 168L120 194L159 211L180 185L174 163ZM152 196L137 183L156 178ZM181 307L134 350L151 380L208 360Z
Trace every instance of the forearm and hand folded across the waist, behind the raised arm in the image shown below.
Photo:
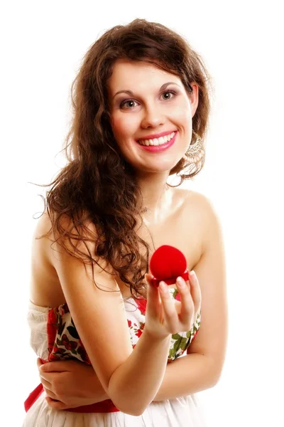
M52 408L64 410L109 399L90 366L72 361L50 362L42 366L40 379ZM162 384L153 401L187 396L209 389L217 381L217 371L210 359L202 354L187 354L167 365Z

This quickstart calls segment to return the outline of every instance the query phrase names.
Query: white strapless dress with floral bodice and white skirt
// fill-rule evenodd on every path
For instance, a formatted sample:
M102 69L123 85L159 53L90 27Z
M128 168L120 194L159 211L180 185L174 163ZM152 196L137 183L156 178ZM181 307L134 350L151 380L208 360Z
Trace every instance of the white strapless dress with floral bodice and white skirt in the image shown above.
M176 292L171 293L176 298ZM145 307L140 302L130 298L124 300L126 318L129 324L131 343L136 342L143 332L145 325ZM52 327L48 329L47 325ZM67 305L56 308L39 307L30 302L28 307L28 325L31 330L31 347L35 354L46 361L77 358L88 363L87 354L82 348L82 342L75 337L74 322ZM70 328L71 325L71 328ZM67 327L69 328L67 329ZM74 327L75 334L72 333ZM181 332L172 337L168 362L174 363L177 357L186 354L192 339L200 327L200 316L189 332ZM50 332L51 331L51 332ZM71 332L71 334L70 334ZM50 334L54 333L56 345L50 347ZM60 341L58 338L60 337ZM74 342L78 343L75 349ZM61 345L58 343L61 342ZM49 344L48 344L49 343ZM68 345L69 343L69 345ZM72 345L71 345L72 344ZM61 348L60 348L61 347ZM72 354L70 348L72 347ZM75 349L75 351L74 351ZM76 356L74 356L76 354ZM153 401L141 416L131 416L127 413L75 413L58 411L48 406L45 392L38 397L26 413L23 427L205 427L202 406L196 395Z

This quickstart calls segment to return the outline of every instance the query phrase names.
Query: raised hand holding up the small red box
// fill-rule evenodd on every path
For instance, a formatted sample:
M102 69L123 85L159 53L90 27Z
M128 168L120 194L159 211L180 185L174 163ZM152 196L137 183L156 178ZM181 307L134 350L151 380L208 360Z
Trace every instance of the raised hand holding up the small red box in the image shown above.
M148 289L144 330L157 338L190 331L201 307L201 290L195 272L190 272L190 280L177 279L180 301L171 298L168 285L163 281L156 288L151 278L146 274Z

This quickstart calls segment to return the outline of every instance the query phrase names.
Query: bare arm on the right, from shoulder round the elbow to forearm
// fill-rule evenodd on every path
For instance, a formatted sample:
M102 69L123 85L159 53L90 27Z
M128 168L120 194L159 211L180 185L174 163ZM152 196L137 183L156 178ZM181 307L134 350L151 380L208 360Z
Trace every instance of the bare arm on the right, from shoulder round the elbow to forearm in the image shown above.
M187 356L180 357L166 366L165 375L157 393L153 396L153 401L174 399L214 386L219 380L224 364L227 314L222 231L212 205L204 196L200 196L200 204L200 209L204 213L204 244L202 257L194 270L202 292L201 327L197 337L187 349ZM71 372L70 386L73 382ZM135 385L137 386L136 383ZM89 386L84 392L84 396L91 399L93 396L102 396L102 399L95 400L96 402L110 398L99 381L94 387L93 382L89 381ZM136 387L135 392L137 393ZM61 402L53 402L52 406L68 407L62 406Z

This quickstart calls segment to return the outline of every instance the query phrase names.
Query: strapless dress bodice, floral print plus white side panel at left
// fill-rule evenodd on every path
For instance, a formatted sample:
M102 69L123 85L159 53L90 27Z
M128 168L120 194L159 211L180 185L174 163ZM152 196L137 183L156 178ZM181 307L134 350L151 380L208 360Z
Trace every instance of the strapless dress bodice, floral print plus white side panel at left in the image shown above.
M178 290L169 288L170 296L179 300ZM133 297L124 299L126 320L134 348L145 326L146 300ZM77 359L90 364L89 357L72 320L68 305L58 307L39 307L30 302L28 309L28 324L31 330L31 347L41 359L55 361L62 359ZM168 362L180 357L190 346L200 329L200 313L187 332L173 334L170 341Z

